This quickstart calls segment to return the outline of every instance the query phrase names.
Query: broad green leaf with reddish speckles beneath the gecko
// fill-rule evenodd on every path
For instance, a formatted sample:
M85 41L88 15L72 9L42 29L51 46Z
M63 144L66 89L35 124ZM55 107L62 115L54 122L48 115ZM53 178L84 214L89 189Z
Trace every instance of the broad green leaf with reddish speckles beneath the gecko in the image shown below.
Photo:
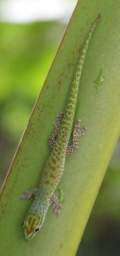
M56 216L49 208L42 229L34 239L25 242L22 222L32 198L23 201L19 194L39 184L50 152L47 141L53 130L52 122L64 110L79 52L99 13L101 18L82 71L75 114L75 119L81 118L88 130L80 139L78 152L65 162L60 181L65 194L63 210L61 216ZM76 253L119 136L118 18L118 0L78 1L3 186L1 255L73 256ZM100 74L104 82L96 82L96 90L94 81Z

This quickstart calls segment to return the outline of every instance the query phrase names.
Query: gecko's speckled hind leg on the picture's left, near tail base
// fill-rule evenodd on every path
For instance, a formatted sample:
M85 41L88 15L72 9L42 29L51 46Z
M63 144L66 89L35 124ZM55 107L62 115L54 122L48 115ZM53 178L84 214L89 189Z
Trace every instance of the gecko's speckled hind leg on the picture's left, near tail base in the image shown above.
M55 144L55 141L56 141L57 134L59 133L63 115L64 115L64 112L61 112L60 116L59 115L57 116L57 121L53 122L53 124L55 125L55 130L51 133L51 136L49 136L49 139L48 139L49 147L51 149L53 148L53 145Z

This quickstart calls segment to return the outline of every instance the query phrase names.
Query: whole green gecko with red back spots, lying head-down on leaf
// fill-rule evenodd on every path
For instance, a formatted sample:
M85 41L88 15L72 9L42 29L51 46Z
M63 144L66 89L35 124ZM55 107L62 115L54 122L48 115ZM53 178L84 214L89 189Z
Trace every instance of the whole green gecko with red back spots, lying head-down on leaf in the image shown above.
M40 184L38 188L24 190L23 194L20 195L20 198L23 199L30 198L32 195L35 197L23 224L24 239L26 241L33 238L34 235L40 230L40 227L42 227L50 204L52 204L52 208L57 214L60 214L60 209L63 208L59 202L59 199L54 194L54 191L63 175L65 158L77 151L78 137L84 135L84 130L86 129L86 127L83 127L81 130L79 129L81 120L78 119L73 131L72 145L68 145L69 138L71 136L73 117L75 115L77 93L81 79L82 67L84 65L90 38L99 17L100 14L89 31L82 48L65 111L64 113L61 112L61 115L57 116L57 121L54 122L55 130L49 137L49 145L52 150L44 166Z

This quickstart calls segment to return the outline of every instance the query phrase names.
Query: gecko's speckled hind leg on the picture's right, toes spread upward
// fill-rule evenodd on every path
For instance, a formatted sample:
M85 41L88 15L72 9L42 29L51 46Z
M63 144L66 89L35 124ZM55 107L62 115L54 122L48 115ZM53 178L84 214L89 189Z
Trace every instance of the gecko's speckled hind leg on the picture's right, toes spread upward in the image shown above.
M86 130L86 127L80 127L81 120L77 120L77 124L75 125L74 131L73 131L73 138L72 138L72 145L67 146L66 154L65 156L72 155L75 153L78 149L78 137L85 135L84 131Z

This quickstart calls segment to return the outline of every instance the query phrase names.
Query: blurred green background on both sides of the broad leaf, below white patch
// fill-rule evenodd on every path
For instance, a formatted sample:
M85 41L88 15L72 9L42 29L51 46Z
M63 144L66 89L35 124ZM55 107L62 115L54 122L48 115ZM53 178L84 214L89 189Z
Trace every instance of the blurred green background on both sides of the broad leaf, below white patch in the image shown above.
M68 9L71 2L72 0L66 2ZM1 3L2 1L2 13ZM76 1L73 3L75 7ZM3 184L65 27L67 23L64 17L55 19L54 13L52 21L38 19L18 23L8 19L7 22L1 20L0 186ZM118 142L76 256L119 255L119 152Z

